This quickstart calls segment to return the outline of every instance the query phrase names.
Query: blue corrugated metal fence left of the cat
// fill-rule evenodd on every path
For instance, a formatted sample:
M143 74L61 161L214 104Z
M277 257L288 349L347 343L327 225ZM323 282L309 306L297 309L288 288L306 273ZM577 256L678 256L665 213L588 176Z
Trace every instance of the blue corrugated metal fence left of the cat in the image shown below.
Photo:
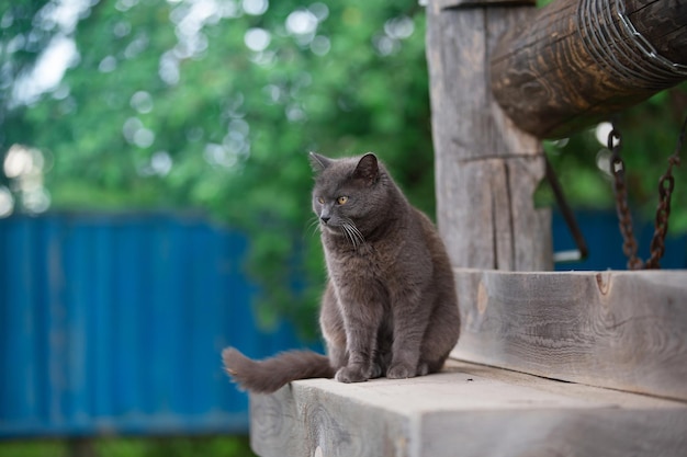
M200 219L0 220L0 437L246 432L221 350L302 343L257 329L245 250Z

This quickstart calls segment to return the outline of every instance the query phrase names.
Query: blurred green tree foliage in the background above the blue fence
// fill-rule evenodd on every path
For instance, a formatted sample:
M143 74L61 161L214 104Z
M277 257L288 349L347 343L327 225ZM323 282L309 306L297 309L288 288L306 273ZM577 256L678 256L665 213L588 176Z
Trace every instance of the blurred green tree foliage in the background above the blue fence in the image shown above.
M11 4L8 11L21 14L0 18L2 71L12 70L0 77L8 113L0 150L18 144L41 151L53 208L203 208L250 233L247 265L261 286L264 322L286 313L316 328L324 267L308 150L375 151L410 201L433 213L425 16L417 0ZM14 30L18 18L23 22ZM35 46L18 47L16 37L33 43L33 34ZM8 52L14 38L21 53ZM29 81L19 71L30 68L22 53L33 53L26 57L33 62L60 43L70 62L65 77L43 92L18 92L10 103L9 81ZM685 88L622 121L637 195L655 186L649 183L675 145L682 114L669 107L674 93L684 96ZM647 119L651 128L641 125ZM611 187L596 167L595 141L583 133L548 149L573 203L607 206ZM687 186L680 174L677 185Z

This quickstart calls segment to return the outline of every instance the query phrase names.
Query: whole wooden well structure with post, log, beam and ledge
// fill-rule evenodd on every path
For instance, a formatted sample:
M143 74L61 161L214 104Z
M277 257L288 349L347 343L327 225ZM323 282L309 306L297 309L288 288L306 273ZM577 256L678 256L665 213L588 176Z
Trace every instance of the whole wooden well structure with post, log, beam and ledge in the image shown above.
M687 455L687 271L550 272L550 213L532 202L541 138L687 78L687 4L430 0L427 20L437 219L462 317L454 359L409 380L251 396L254 449ZM638 43L661 59L632 54Z

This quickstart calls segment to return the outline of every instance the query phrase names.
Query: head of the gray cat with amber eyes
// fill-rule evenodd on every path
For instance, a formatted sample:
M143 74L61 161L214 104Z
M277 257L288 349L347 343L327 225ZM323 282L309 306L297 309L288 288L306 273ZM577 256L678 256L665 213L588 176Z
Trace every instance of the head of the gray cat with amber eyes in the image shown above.
M311 152L313 212L323 230L362 242L386 215L388 174L373 153L329 159Z

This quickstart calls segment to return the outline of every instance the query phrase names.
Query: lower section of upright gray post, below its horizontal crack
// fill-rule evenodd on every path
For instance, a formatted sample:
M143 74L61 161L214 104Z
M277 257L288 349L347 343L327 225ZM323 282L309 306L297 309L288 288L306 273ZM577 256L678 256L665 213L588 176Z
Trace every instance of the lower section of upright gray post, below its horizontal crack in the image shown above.
M454 266L530 271L553 259L551 213L536 210L538 158L444 161L439 227Z

